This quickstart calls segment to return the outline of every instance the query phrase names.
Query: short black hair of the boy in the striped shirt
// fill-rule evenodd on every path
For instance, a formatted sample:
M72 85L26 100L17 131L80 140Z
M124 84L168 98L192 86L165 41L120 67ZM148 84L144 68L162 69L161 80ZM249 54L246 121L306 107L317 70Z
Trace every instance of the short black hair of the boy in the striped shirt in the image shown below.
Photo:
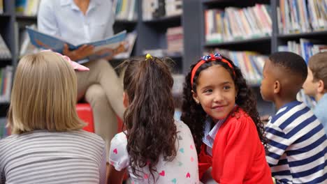
M286 71L298 75L303 82L307 79L307 64L302 56L293 52L275 52L269 56L269 60L273 65L285 68Z

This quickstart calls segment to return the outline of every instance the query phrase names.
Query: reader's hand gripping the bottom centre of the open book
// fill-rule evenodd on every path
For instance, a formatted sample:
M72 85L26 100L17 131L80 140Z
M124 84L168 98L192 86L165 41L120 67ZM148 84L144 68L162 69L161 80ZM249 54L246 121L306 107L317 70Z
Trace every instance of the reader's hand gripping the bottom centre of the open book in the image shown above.
M68 56L72 61L78 61L80 59L85 59L87 56L91 55L93 53L93 49L93 45L82 45L82 47L70 51L68 49L68 45L65 44L62 53Z

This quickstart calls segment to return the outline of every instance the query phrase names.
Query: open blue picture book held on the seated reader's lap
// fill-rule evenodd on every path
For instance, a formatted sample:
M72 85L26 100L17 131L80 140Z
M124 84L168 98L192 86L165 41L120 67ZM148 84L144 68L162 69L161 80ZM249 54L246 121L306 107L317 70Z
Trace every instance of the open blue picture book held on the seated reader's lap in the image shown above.
M51 49L52 51L59 52L61 54L64 49L64 44L67 44L70 50L78 49L78 47L81 47L82 45L93 45L94 46L93 54L85 59L76 61L78 63L86 63L88 61L93 61L96 59L101 59L111 56L114 53L113 51L115 49L122 47L123 42L126 38L126 31L122 31L104 40L99 40L91 43L83 43L80 45L73 45L61 38L50 36L46 33L37 31L36 29L32 29L31 27L27 26L26 29L27 29L27 33L29 33L29 38L31 39L31 43L33 45L42 49Z

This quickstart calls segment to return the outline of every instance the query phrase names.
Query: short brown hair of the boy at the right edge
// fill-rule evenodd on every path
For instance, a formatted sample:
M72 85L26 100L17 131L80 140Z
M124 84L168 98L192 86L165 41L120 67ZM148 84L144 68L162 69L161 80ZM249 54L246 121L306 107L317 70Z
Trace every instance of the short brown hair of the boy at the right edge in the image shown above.
M324 89L327 89L327 52L314 54L309 59L308 66L312 71L314 81L322 80Z

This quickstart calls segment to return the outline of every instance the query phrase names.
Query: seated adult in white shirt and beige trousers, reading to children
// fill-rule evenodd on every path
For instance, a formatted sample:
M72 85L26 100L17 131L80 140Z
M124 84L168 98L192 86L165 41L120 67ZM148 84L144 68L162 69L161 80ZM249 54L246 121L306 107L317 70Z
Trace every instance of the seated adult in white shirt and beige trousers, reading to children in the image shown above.
M74 45L112 36L114 21L110 0L41 0L38 10L39 31ZM83 45L71 51L65 46L63 54L78 61L92 54L93 49L91 45ZM85 97L92 106L94 130L106 141L108 154L110 141L117 133L116 114L122 118L125 109L122 83L106 59L85 63L89 72L76 72L76 75L78 100Z

